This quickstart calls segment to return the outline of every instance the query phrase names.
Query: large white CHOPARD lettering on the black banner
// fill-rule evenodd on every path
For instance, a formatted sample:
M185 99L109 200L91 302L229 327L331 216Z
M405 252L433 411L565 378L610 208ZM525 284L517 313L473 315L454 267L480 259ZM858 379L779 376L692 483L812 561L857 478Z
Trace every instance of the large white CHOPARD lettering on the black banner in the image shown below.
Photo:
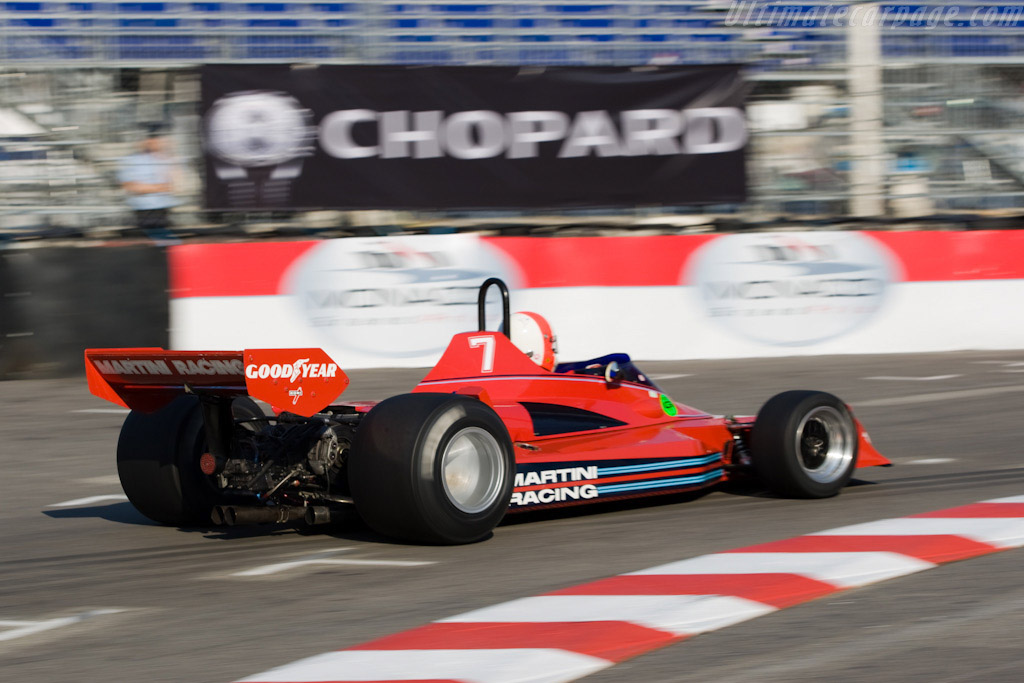
M746 137L734 106L447 116L359 109L332 112L319 124L321 146L338 159L531 159L547 142L558 143L558 158L711 155L740 150Z

